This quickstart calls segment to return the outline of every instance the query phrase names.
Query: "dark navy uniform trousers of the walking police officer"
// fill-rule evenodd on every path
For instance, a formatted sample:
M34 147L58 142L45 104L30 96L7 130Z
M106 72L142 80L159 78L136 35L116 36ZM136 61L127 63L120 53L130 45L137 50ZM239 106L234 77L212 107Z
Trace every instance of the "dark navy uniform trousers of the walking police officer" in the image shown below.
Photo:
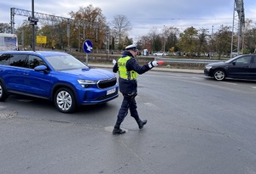
M131 116L138 122L140 121L139 115L137 113L137 103L135 100L135 97L137 96L137 93L134 94L126 94L123 93L124 99L121 105L121 108L119 109L119 115L117 116L117 121L115 124L115 127L119 127L120 124L124 121L125 116L128 114L128 109L130 109Z

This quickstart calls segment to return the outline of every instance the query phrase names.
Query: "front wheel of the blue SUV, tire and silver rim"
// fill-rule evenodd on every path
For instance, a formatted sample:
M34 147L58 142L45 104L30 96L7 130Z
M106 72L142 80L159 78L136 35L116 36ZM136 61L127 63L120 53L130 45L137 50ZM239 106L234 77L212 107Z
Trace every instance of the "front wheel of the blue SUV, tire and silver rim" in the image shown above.
M55 107L63 113L73 113L76 109L76 99L67 87L61 87L55 93Z

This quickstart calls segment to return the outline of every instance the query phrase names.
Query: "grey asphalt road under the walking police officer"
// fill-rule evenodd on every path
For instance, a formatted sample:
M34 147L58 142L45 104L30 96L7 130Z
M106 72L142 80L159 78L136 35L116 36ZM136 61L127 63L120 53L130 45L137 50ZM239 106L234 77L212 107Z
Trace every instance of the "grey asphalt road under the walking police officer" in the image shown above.
M62 114L43 100L0 103L0 173L255 174L255 81L150 71L138 78L139 130L112 135L122 97Z

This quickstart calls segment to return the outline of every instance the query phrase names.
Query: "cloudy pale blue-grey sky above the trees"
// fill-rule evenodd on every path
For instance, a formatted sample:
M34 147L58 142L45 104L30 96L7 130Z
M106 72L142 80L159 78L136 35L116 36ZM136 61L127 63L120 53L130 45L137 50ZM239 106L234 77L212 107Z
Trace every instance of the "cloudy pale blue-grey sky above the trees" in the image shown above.
M107 22L116 14L123 14L130 20L132 31L130 37L147 35L153 27L159 31L166 26L181 30L194 26L196 29L217 30L220 25L233 23L235 0L34 0L34 11L43 14L55 14L70 18L69 12L79 11L79 7L90 4L101 8ZM246 19L256 23L256 0L243 0ZM1 0L0 22L10 22L10 8L32 11L30 0ZM15 15L15 27L26 20L25 16Z

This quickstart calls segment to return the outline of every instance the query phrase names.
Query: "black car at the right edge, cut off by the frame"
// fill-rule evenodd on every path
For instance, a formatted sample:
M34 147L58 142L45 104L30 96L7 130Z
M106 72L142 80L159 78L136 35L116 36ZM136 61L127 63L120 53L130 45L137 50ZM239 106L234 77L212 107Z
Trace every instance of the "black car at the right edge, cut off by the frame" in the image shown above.
M206 65L204 74L212 76L217 81L224 81L226 77L255 80L256 55L239 55L224 62Z

